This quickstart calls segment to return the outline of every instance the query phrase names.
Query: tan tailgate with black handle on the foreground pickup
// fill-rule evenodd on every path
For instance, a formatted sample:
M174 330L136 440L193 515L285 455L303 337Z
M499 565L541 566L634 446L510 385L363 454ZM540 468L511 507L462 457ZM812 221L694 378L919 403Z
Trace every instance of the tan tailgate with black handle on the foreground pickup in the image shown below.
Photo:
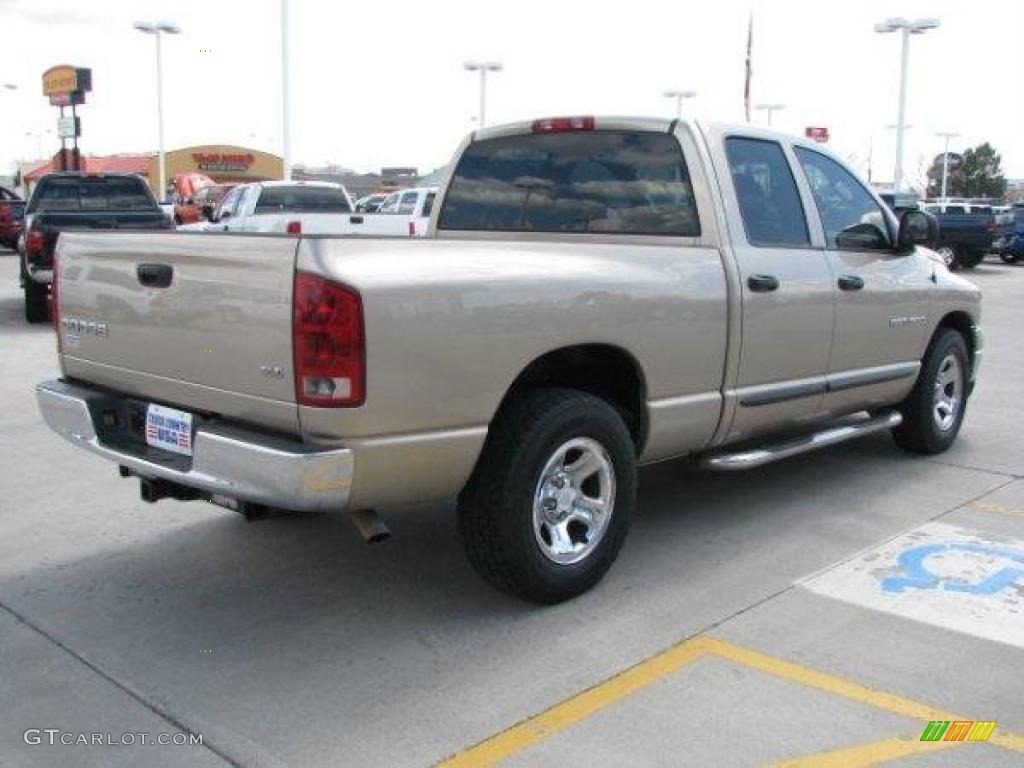
M254 234L61 236L66 376L297 431L296 244Z

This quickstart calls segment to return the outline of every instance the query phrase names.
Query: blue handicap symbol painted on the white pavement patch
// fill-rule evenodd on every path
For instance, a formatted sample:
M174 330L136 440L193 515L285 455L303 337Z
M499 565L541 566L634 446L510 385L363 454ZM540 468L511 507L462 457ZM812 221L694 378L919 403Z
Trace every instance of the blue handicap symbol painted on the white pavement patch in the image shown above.
M1011 563L1001 570L992 573L980 582L969 583L958 579L940 577L931 572L925 561L932 555L943 552L973 552L989 557L998 557ZM900 593L907 589L933 590L942 586L947 592L965 592L970 595L993 595L1012 584L1024 584L1024 552L1006 547L990 547L973 542L954 542L951 544L927 544L908 549L896 558L903 569L903 574L887 577L882 580L882 590L889 593Z

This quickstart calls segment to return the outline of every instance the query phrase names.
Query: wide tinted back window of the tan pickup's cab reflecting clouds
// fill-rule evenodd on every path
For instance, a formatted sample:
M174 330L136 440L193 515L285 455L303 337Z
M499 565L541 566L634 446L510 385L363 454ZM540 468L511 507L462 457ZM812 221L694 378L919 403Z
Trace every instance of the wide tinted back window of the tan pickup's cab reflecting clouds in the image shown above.
M679 142L668 133L531 134L470 144L440 229L700 233Z

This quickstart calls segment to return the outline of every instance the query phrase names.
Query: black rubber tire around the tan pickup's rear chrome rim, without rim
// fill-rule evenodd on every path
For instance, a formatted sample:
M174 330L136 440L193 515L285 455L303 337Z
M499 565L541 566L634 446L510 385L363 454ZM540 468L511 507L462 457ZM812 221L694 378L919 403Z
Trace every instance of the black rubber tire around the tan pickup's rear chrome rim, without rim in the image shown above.
M549 487L542 485L549 461L560 466L555 457L577 439L596 441L603 450L613 472L613 492L603 534L593 544L570 537L572 546L591 549L579 562L559 563L546 554L553 548L551 534L544 547L542 528L548 523L543 518L538 523L536 514L547 513L535 513L535 497ZM571 466L568 458L565 454L565 466ZM569 488L571 499L558 505L575 503L581 492L574 481ZM547 501L555 503L553 498ZM470 563L486 582L510 595L553 604L586 592L607 572L635 506L635 449L615 409L572 389L534 389L505 406L492 424L473 476L459 496L459 527Z

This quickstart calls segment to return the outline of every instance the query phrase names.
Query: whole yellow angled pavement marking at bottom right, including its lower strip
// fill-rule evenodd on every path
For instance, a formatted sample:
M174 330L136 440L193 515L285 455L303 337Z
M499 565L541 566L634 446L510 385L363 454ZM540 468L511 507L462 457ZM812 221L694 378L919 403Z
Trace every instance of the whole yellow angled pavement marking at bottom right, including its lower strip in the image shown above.
M684 640L678 645L674 645L668 650L664 650L598 683L594 687L588 688L582 693L562 700L539 715L529 717L480 741L474 746L453 755L438 765L442 768L455 768L456 766L462 768L464 766L484 766L499 763L548 736L552 736L586 720L595 713L646 688L651 683L668 677L703 655L717 656L740 667L746 667L748 669L763 672L808 688L816 688L853 701L876 707L900 717L924 722L930 720L953 721L971 719L921 703L920 701L886 693L874 688L868 688L841 677L818 672L792 662L775 658L774 656L769 656L750 648L741 648L724 640L702 635L690 640ZM989 713L984 714L985 716L989 716ZM915 755L921 752L929 752L932 749L941 749L924 745L934 743L889 738L870 744L861 744L860 746L837 750L830 753L821 753L817 756L812 756L812 758L831 759L830 756L837 755L839 757L836 762L822 762L820 764L836 766L872 765L885 762L886 760L896 760L904 755ZM1013 752L1024 753L1024 736L1002 731L998 727L995 728L989 737L988 743L996 744ZM910 752L905 752L907 750L910 750ZM872 755L874 756L873 758ZM818 763L813 762L812 758L800 759L810 760L811 762L808 763L792 762L780 765L817 765ZM856 760L862 762L855 762Z

